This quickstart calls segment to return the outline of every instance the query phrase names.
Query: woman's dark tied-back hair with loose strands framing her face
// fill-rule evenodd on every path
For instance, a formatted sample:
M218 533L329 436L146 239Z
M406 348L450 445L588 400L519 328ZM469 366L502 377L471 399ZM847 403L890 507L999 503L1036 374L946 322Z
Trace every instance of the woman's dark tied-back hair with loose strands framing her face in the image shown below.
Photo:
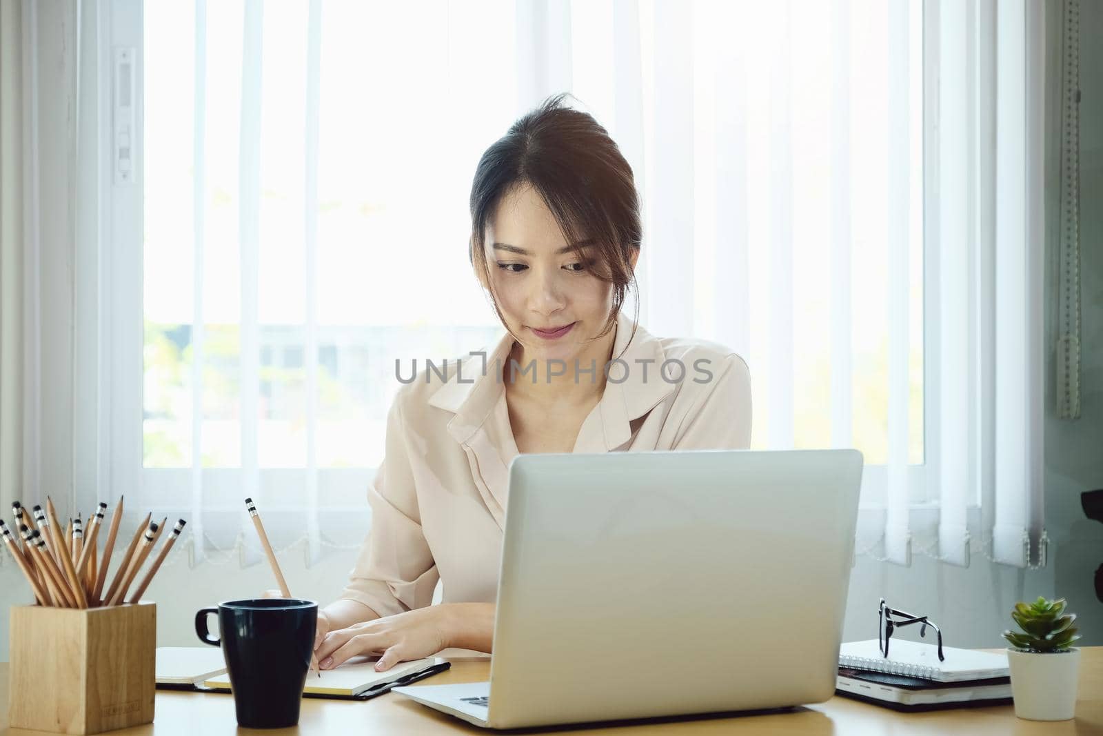
M488 221L508 192L532 185L547 203L567 243L580 249L586 238L597 252L592 273L613 285L613 308L601 332L604 335L615 324L629 288L639 294L632 254L640 250L643 239L640 199L632 167L617 143L591 115L565 106L565 97L549 97L520 118L479 159L471 183L468 257L490 291L483 239ZM508 330L492 291L490 299ZM639 299L635 310L638 318ZM636 321L633 319L632 334Z

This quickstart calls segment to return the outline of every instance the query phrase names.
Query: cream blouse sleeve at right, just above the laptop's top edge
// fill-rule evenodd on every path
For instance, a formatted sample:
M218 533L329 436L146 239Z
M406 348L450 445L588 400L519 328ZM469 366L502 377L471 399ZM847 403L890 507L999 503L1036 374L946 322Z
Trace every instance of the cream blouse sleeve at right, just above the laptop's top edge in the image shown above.
M751 445L751 375L736 354L720 363L686 414L675 450L742 450Z

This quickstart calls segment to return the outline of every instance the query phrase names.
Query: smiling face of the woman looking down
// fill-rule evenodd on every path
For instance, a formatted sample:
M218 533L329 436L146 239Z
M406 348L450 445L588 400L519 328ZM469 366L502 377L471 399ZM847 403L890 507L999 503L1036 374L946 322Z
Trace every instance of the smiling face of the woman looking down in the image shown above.
M490 287L524 360L563 360L570 375L576 358L588 367L590 341L606 327L613 294L590 270L596 250L583 248L579 258L529 184L502 199L483 239Z

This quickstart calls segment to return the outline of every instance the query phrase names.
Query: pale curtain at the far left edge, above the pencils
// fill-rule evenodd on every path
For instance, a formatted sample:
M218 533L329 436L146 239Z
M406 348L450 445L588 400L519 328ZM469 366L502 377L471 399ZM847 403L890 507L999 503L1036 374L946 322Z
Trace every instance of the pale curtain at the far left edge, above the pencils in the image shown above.
M0 505L62 513L95 451L76 425L81 2L4 2L0 20ZM93 233L94 234L94 233ZM82 269L83 270L83 269ZM95 277L93 271L90 277ZM95 375L95 372L92 372ZM93 438L93 442L94 442ZM85 510L86 512L86 510ZM73 512L75 515L75 511Z

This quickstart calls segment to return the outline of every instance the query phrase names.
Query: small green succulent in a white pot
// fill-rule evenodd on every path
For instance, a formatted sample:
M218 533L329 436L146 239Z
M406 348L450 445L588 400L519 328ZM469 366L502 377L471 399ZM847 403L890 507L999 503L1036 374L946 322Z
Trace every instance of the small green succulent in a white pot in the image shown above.
M1067 721L1077 713L1080 649L1070 647L1080 637L1064 612L1064 598L1015 604L1011 618L1021 631L1004 631L1010 642L1015 715L1030 721Z

